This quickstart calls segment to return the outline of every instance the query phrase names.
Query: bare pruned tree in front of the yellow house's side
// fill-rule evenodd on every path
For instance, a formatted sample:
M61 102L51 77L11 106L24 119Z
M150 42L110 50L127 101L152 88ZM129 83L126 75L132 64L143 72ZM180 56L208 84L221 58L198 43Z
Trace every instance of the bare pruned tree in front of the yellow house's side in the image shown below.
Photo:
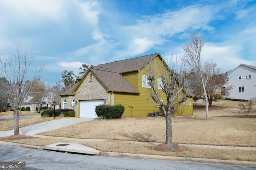
M154 68L158 65L158 68ZM169 66L170 67L169 67ZM172 113L177 108L177 105L186 101L188 94L186 88L190 84L188 79L187 68L184 63L178 60L178 57L173 55L170 57L170 61L165 63L149 63L146 70L147 80L149 86L148 93L150 98L158 104L161 114L164 114L166 119L166 145L169 149L172 148ZM158 72L157 70L160 70ZM157 77L157 78L156 78ZM158 78L161 79L161 85L159 89ZM164 92L164 98L161 98L161 93ZM167 106L164 106L162 100L167 101Z

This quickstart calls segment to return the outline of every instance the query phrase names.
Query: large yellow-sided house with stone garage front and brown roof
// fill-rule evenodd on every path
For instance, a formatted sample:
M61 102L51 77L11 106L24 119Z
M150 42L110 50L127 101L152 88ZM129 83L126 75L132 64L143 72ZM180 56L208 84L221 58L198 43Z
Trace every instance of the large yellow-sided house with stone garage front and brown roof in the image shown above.
M60 94L62 108L71 108L78 117L96 117L95 106L99 104L122 104L125 111L122 117L148 116L159 111L158 104L149 96L150 86L147 69L154 68L156 75L164 68L164 59L159 53L91 66L80 81ZM166 94L158 83L160 98L167 105ZM177 115L192 115L192 98L176 106Z

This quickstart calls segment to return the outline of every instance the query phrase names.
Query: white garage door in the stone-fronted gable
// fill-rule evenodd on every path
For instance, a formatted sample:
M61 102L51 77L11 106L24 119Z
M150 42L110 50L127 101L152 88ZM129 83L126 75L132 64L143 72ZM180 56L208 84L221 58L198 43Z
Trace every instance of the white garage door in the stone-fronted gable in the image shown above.
M95 106L101 105L104 100L80 101L80 117L96 118Z

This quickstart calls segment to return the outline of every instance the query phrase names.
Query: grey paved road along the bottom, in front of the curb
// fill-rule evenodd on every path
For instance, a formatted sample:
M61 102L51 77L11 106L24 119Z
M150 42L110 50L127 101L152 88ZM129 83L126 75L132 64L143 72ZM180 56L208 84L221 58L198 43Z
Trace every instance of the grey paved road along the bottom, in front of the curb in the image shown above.
M24 161L26 170L255 170L243 166L89 156L0 145L0 161Z

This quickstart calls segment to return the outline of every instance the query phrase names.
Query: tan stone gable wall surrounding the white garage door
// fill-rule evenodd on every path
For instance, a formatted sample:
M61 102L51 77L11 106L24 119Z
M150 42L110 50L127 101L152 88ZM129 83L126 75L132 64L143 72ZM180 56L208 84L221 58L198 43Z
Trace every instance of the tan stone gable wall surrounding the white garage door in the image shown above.
M75 100L104 100L106 104L110 104L110 92L106 91L106 87L92 74L92 80L90 80L89 72L84 79L79 89L76 91ZM114 96L114 95L113 95ZM114 101L112 101L114 103ZM75 104L76 116L78 116L78 103Z

